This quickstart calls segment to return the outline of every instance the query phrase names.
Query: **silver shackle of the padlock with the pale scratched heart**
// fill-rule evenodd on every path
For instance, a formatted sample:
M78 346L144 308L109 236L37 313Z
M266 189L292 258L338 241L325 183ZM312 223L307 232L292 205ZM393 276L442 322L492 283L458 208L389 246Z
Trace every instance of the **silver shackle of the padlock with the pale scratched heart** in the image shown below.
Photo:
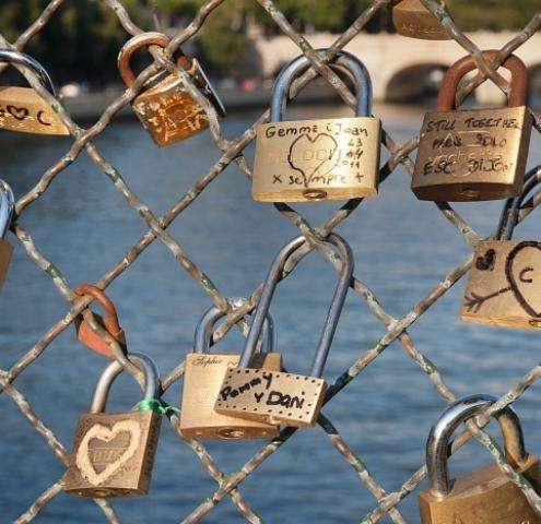
M157 398L161 388L160 371L154 360L142 353L130 353L127 355L127 358L144 373L145 380L143 400L148 401L151 398ZM124 367L118 360L110 362L104 369L99 380L97 381L96 388L94 389L90 413L96 414L104 412L110 386L122 371Z

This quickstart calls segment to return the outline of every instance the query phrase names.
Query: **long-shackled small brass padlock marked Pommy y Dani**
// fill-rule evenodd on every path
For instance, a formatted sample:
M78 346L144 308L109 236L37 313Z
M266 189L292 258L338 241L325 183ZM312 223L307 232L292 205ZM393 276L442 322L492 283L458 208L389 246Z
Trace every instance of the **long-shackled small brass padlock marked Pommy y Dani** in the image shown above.
M228 369L220 389L220 395L214 406L217 413L298 428L311 427L316 424L327 391L327 383L321 376L351 284L354 266L351 248L342 237L330 234L325 239L326 242L338 247L342 267L311 362L310 374L293 374L287 371L274 372L250 367L256 343L261 334L263 319L269 311L274 289L282 277L285 263L297 249L304 246L305 241L304 236L294 238L280 250L274 259L264 282L238 366Z

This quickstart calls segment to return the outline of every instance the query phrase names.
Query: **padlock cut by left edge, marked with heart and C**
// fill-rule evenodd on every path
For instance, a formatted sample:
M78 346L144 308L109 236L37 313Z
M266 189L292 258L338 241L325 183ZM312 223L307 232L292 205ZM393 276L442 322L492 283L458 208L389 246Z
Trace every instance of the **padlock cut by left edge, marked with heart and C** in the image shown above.
M0 49L0 62L32 70L42 85L56 96L49 74L28 55ZM0 87L0 129L37 134L70 134L57 111L32 87Z

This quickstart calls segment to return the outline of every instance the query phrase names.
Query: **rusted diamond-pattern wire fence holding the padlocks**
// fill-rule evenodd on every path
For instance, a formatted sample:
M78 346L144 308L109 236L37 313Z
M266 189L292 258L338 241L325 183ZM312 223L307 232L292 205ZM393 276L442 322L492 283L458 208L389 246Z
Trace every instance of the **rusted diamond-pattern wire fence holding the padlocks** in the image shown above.
M103 4L110 8L117 15L119 23L127 32L128 36L142 33L143 29L138 27L133 20L130 17L130 13L118 0L99 0ZM373 19L381 9L387 9L391 0L374 0L372 4L351 24L351 26L337 38L334 44L329 47L325 55L319 55L311 47L309 39L298 34L291 22L280 11L278 4L271 0L256 0L262 10L264 10L275 22L278 27L287 35L293 43L299 48L299 50L309 59L313 69L308 70L302 78L295 81L292 86L291 95L296 96L303 87L305 87L310 81L313 81L318 74L337 91L337 93L344 99L346 104L354 107L354 97L348 90L341 79L327 66L329 60L337 55L348 43L350 43L356 35L358 35L365 27L365 25ZM518 33L511 40L509 40L498 52L493 62L487 61L480 49L471 41L460 29L455 25L449 13L442 7L436 0L422 0L426 8L428 8L446 27L449 35L464 49L466 52L474 57L479 67L479 73L469 83L467 83L458 93L458 99L463 99L469 93L472 92L478 85L484 82L486 79L493 81L504 92L508 92L508 83L497 73L498 66L527 41L541 25L541 11L534 13L531 21L524 29ZM47 8L38 16L38 19L14 41L9 43L0 35L0 46L10 47L17 50L23 50L26 44L36 36L39 31L57 14L57 12L66 3L64 0L52 0ZM210 299L217 307L227 310L228 314L224 323L219 329L215 340L220 340L226 334L226 332L236 323L239 323L240 329L246 332L246 325L242 321L243 314L251 310L257 303L261 286L254 290L249 300L245 306L233 310L225 296L214 285L210 276L204 274L196 263L189 258L184 250L183 246L167 233L168 226L191 204L193 204L198 196L208 188L208 186L219 177L224 169L232 163L237 164L239 169L249 180L251 178L251 166L245 158L243 152L245 147L254 140L255 129L258 124L268 121L269 111L264 111L251 127L246 129L240 135L234 140L226 139L220 128L217 116L210 105L210 103L197 91L191 84L189 75L185 71L177 67L174 61L170 60L175 50L193 37L203 26L207 16L213 12L221 4L226 3L225 0L209 0L198 11L191 23L187 25L183 31L179 31L172 40L169 46L165 50L160 48L151 48L151 52L155 59L154 63L148 67L137 79L136 83L126 92L115 99L103 112L99 119L90 128L82 129L73 122L69 112L62 106L61 102L56 99L47 90L45 90L35 74L31 71L21 69L21 72L26 76L31 85L43 96L50 105L58 111L61 120L68 127L73 142L69 151L59 158L54 165L51 165L40 177L38 183L31 189L26 194L21 196L16 202L16 221L12 226L13 233L21 241L27 255L35 264L42 269L51 279L52 284L57 287L58 291L69 303L63 318L58 320L51 325L47 332L31 347L21 358L14 362L11 368L0 370L0 388L4 398L11 398L20 408L22 414L27 418L28 422L34 429L45 439L50 446L52 453L63 463L67 464L68 451L64 445L59 442L55 433L47 427L47 425L34 413L32 406L25 400L24 394L14 385L17 377L23 373L30 366L37 364L38 357L47 350L49 344L66 330L73 320L91 303L89 297L78 297L73 289L70 287L66 277L61 274L58 267L48 260L35 245L32 235L24 227L24 212L26 207L33 204L36 200L40 199L47 191L49 184L71 164L78 160L82 153L86 153L92 160L103 170L103 172L109 178L110 182L118 190L120 195L131 205L145 223L149 230L137 239L132 247L126 252L126 254L110 267L105 274L103 274L95 283L98 287L105 289L109 286L118 276L137 262L138 257L154 241L158 240L163 242L167 249L175 257L180 267L190 275L196 282L198 282L202 289L209 295ZM0 66L0 71L5 69L5 64ZM202 174L201 178L189 190L179 195L175 204L162 216L156 216L149 206L132 191L128 183L122 178L122 175L105 158L98 147L94 144L93 140L99 135L110 123L111 118L122 107L128 105L141 91L144 82L150 79L160 69L166 69L175 75L178 75L190 94L197 98L201 106L205 109L210 120L210 130L216 146L222 152L220 159L213 165L209 166L208 170ZM538 116L533 115L534 126L538 131L541 131L541 120ZM384 122L385 127L385 122ZM409 154L412 153L419 144L419 136L413 136L404 144L397 143L392 136L385 131L383 132L383 145L388 150L390 156L386 164L380 169L380 179L385 180L396 168L401 164L405 168L407 172L411 176L413 170L412 162ZM541 172L538 174L541 177ZM541 191L536 193L528 202L524 204L520 211L519 221L525 219L529 213L541 203ZM286 269L287 274L293 272L297 263L311 250L319 251L329 262L339 270L340 262L336 259L334 253L326 247L321 239L325 238L337 225L345 221L355 210L362 204L362 200L351 200L346 202L342 207L336 211L326 223L320 226L313 226L309 222L296 210L286 204L275 204L275 209L286 219L292 222L298 227L299 231L306 237L307 243L303 249L295 252L294 258L290 261L290 265ZM464 239L471 245L472 248L481 240L477 233L470 227L470 225L446 202L436 202L435 205L444 214L444 216L455 226L457 231L461 234ZM462 261L457 267L449 271L446 277L426 294L426 296L415 303L410 311L408 311L402 318L396 319L391 317L379 305L377 297L368 289L360 279L353 278L352 288L364 299L374 313L374 315L381 322L384 327L384 334L379 341L371 348L368 348L356 361L339 376L328 392L326 402L329 402L332 397L338 395L341 390L352 380L357 378L363 370L374 362L379 355L393 342L398 341L403 347L405 354L417 365L427 376L432 385L439 393L446 402L452 402L456 400L454 392L446 385L442 373L438 371L437 366L428 360L415 346L412 337L408 333L408 329L424 314L440 297L443 297L449 288L462 278L471 263L473 255ZM91 313L85 311L86 318L91 319ZM91 320L91 325L96 330L109 344L115 355L122 361L125 366L130 366L130 362L126 360L118 344L101 327ZM131 367L128 369L133 373L137 370ZM177 381L181 380L184 372L184 364L174 368L165 377L163 377L163 389L167 390ZM497 446L496 442L485 432L482 431L482 427L487 424L491 415L501 410L506 405L511 404L518 397L520 397L525 391L532 385L541 376L541 364L531 369L528 373L521 377L516 384L507 391L494 405L492 405L482 417L478 417L477 421L470 421L468 424L468 432L461 433L455 441L452 450L455 451L462 445L472 436L479 440L494 456L505 474L516 483L525 492L528 500L541 514L541 498L534 492L529 483L515 473L505 462L505 456L502 450ZM325 413L325 409L324 409ZM188 446L198 455L202 466L207 469L210 477L215 480L216 487L214 492L207 495L199 505L196 505L191 513L184 516L181 522L193 523L200 521L203 516L209 514L220 502L231 497L232 501L238 509L239 513L251 523L262 522L261 519L250 508L248 501L244 499L240 493L240 487L243 481L251 474L256 474L256 469L261 465L269 456L279 451L280 448L293 437L295 429L285 428L280 438L275 439L271 443L268 443L259 449L259 451L236 473L226 475L214 462L212 456L207 451L205 446L196 440L185 440L180 437L179 432L179 419L176 415L170 417L173 428ZM362 460L355 454L348 443L342 439L332 422L328 420L325 415L320 416L319 425L326 431L329 441L337 448L339 453L344 460L354 468L362 483L371 491L375 499L375 507L366 515L360 515L362 523L376 523L385 515L388 515L395 523L407 522L403 515L398 509L398 504L401 500L408 497L422 481L426 475L424 466L420 467L410 478L408 478L399 489L393 492L387 492L374 476L366 469ZM31 522L50 500L62 491L62 478L51 479L51 485L47 487L43 493L26 509L16 523ZM95 503L103 511L104 517L107 522L119 523L120 520L115 512L111 503L107 500L96 499Z

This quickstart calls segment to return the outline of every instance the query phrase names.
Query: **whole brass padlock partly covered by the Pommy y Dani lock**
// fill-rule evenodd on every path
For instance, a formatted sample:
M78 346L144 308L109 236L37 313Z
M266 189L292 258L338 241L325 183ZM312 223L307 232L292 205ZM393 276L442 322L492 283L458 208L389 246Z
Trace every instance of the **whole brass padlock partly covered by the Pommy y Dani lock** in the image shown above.
M238 308L246 300L233 298L230 301L234 308ZM245 420L214 412L214 402L225 372L230 366L237 366L240 357L235 354L209 353L212 329L224 315L224 311L212 307L197 325L193 341L195 353L186 355L180 431L185 438L193 439L247 440L278 437L280 431L275 425ZM250 366L262 370L280 371L282 356L275 353L274 324L270 314L263 323L263 350L255 355Z

